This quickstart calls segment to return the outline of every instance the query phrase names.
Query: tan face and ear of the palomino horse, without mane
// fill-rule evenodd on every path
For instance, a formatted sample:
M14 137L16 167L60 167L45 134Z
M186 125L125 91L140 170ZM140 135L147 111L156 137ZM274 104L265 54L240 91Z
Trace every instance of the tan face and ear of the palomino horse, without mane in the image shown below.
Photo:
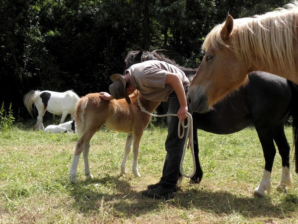
M217 49L209 46L191 82L187 100L194 112L208 111L210 106L223 98L231 88L237 88L245 81L245 67L237 62L234 52L225 47L228 45L232 29L233 19L228 16L220 33L223 46ZM242 74L242 77L233 74Z

